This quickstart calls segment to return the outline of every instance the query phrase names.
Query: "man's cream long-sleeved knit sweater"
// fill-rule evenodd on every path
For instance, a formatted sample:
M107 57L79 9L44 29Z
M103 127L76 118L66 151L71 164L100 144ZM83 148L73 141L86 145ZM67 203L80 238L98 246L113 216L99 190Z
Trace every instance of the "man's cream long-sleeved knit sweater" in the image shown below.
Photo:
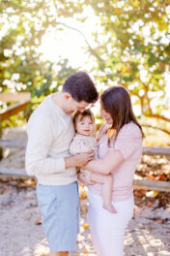
M26 172L40 184L62 185L76 180L76 169L65 169L64 157L74 136L71 115L47 96L27 124Z

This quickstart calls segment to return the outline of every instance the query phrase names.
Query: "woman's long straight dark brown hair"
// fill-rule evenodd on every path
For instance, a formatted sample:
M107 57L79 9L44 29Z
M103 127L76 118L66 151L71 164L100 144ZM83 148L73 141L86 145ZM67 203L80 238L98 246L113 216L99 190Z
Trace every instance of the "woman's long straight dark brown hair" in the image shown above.
M139 127L142 138L145 137L142 127L132 111L131 100L125 87L119 85L106 89L100 95L100 104L105 112L109 112L113 120L112 125L107 130L109 142L114 135L116 140L121 128L130 121Z

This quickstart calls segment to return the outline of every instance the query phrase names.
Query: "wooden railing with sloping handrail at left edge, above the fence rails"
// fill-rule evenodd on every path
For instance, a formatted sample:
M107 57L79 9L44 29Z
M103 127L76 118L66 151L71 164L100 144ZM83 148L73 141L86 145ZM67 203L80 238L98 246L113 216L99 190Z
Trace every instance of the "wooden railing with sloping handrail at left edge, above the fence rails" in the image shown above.
M31 100L30 92L20 92L20 93L0 93L0 101L2 102L16 102L13 106L2 110L0 112L0 139L2 139L2 121L8 119L10 116L16 114L17 112L24 111L29 105ZM1 143L3 141L1 140ZM11 142L13 144L13 142ZM3 146L0 145L0 159L3 157Z

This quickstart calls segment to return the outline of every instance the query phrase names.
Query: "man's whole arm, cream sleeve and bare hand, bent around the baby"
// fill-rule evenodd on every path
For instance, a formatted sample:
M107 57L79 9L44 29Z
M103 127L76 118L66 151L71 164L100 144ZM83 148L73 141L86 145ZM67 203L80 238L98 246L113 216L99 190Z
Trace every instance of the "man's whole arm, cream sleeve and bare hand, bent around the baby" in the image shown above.
M43 116L33 116L28 123L28 144L25 155L26 172L30 176L50 175L62 173L67 168L85 165L93 157L91 153L83 153L66 158L52 158L48 156L53 143L53 125Z

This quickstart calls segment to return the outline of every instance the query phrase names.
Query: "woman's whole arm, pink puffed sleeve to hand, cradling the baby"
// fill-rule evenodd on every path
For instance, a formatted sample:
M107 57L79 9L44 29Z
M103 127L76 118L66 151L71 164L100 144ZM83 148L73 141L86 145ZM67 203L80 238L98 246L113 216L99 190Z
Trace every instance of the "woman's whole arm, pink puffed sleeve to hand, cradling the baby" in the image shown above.
M142 152L141 131L136 124L129 123L119 132L114 148L109 150L103 159L93 160L83 168L100 175L113 174L136 150L138 152L136 157L140 158Z

